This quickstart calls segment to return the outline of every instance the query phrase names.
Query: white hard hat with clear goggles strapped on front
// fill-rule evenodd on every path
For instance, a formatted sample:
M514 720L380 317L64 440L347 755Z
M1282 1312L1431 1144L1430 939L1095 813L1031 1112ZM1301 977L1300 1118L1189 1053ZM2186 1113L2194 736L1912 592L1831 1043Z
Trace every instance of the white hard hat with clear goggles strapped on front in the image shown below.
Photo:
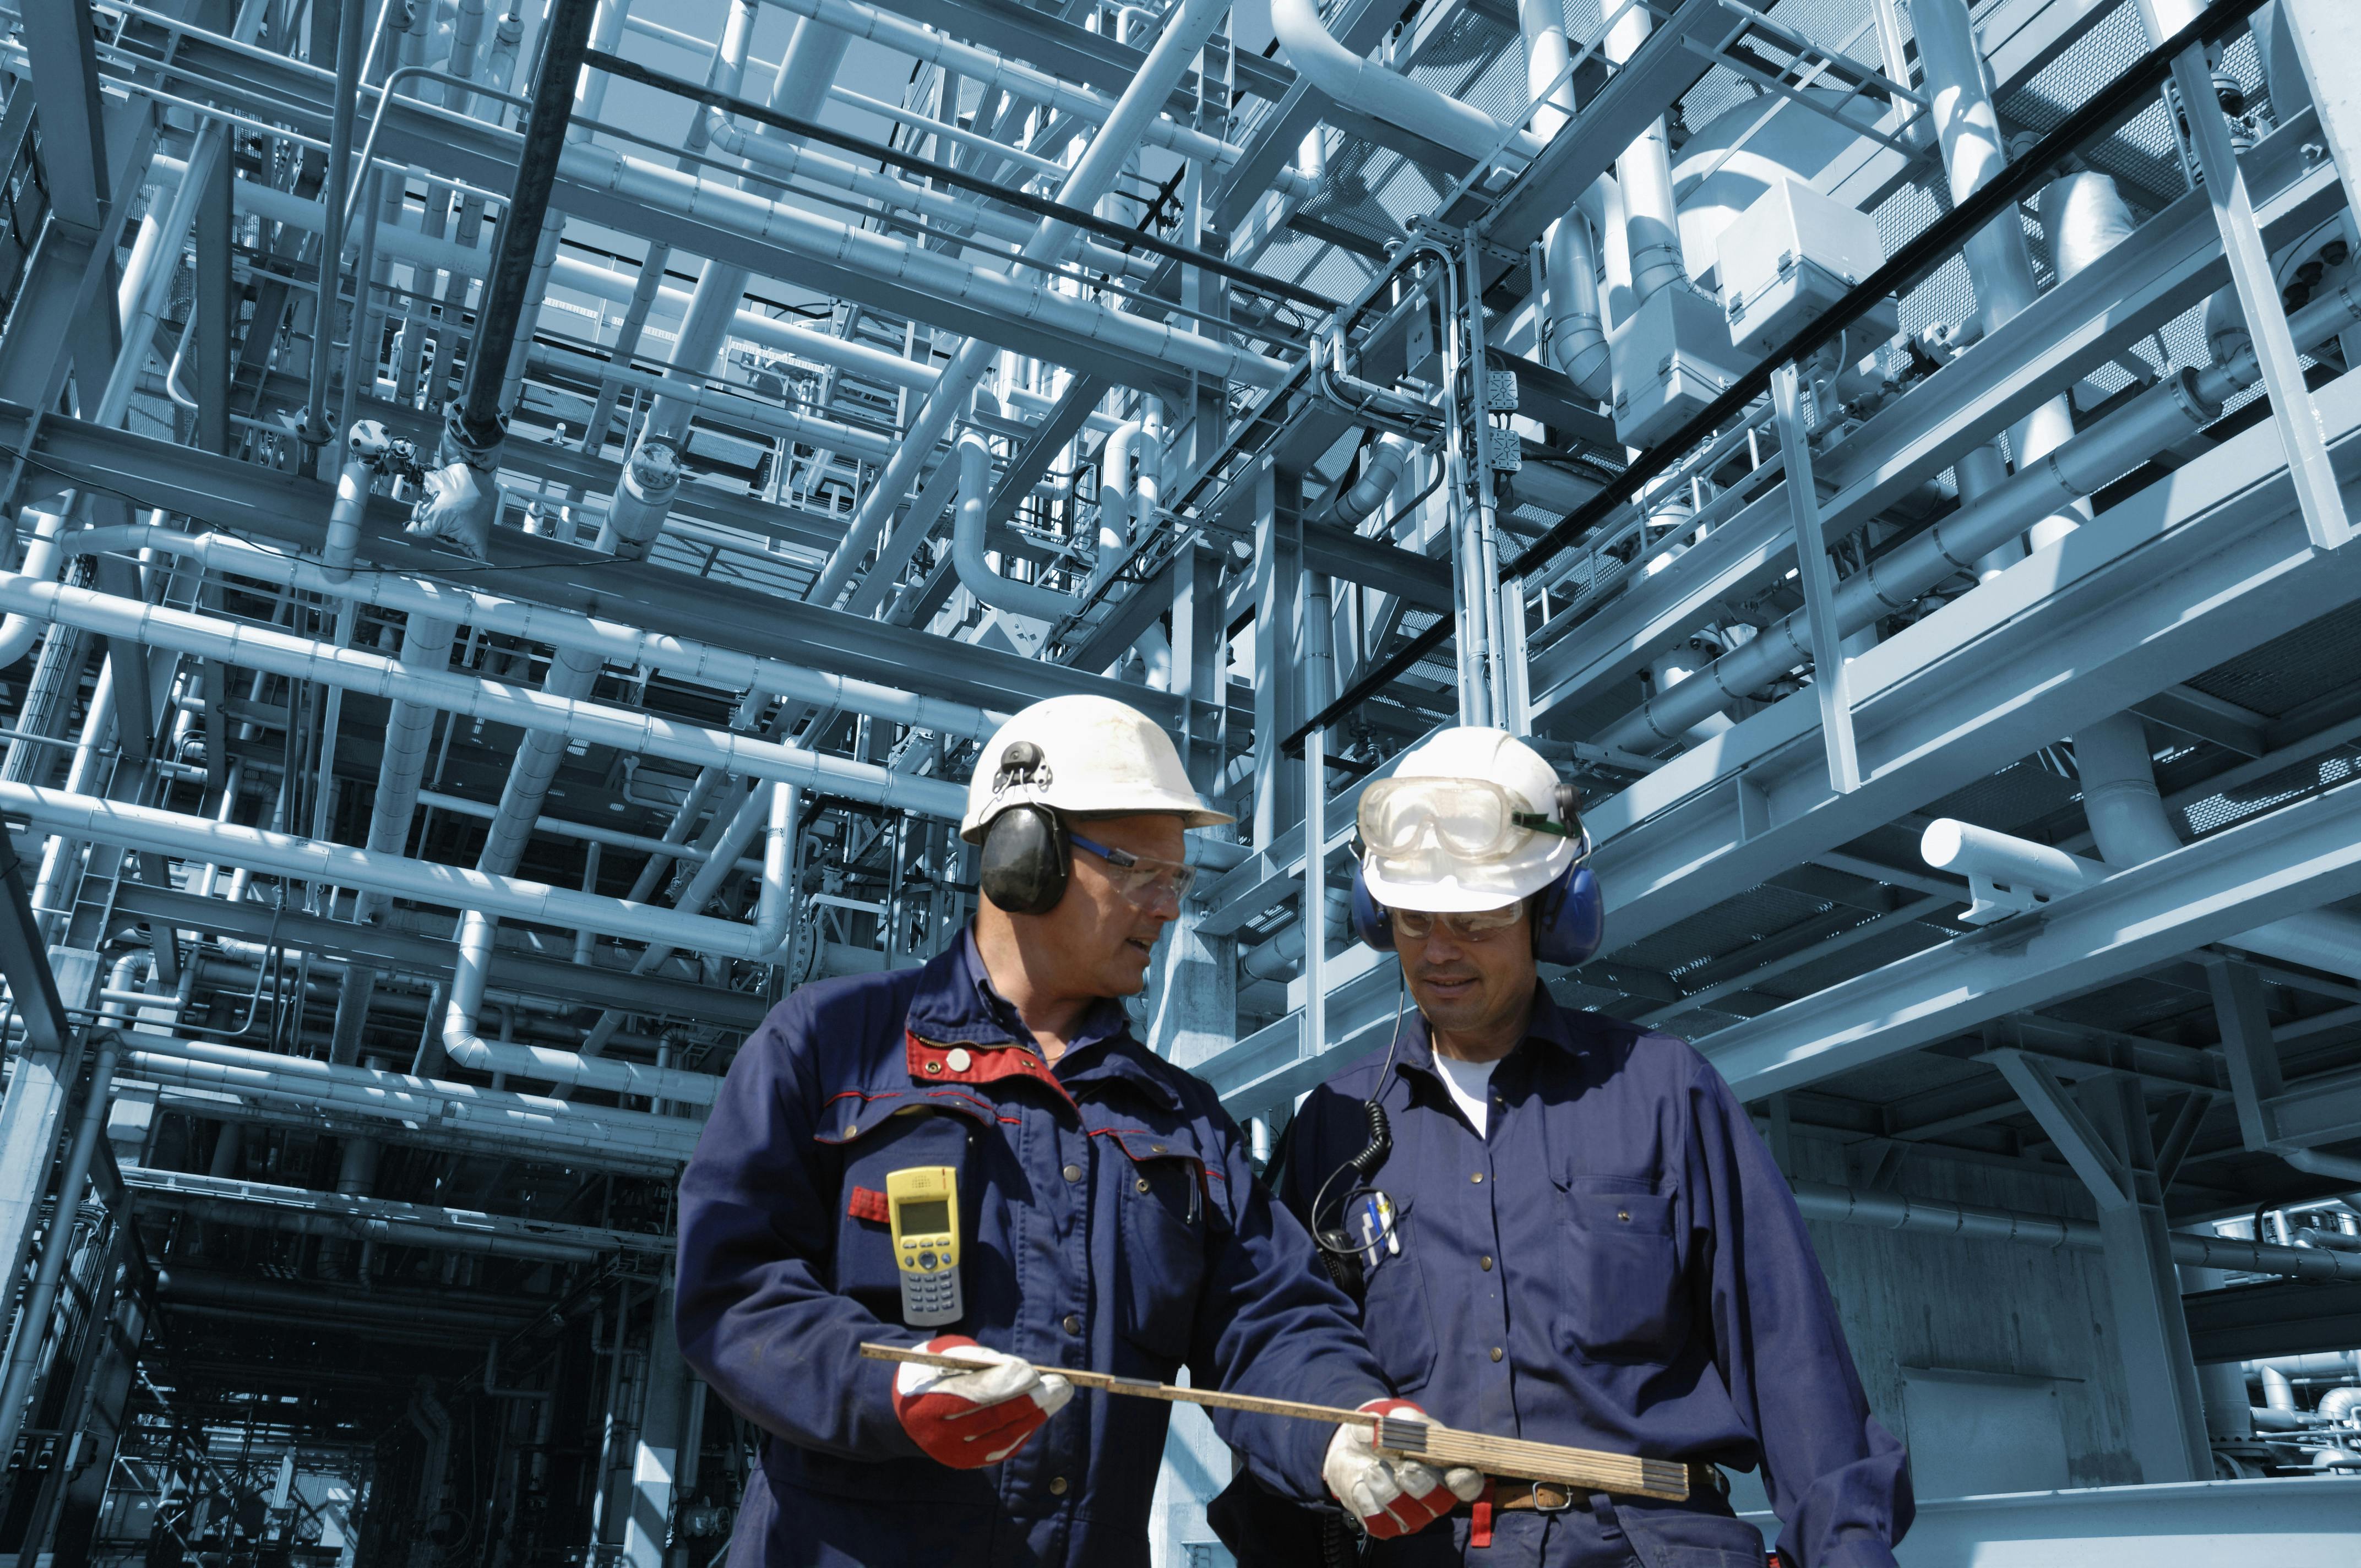
M1433 779L1428 789L1414 786ZM1391 786L1391 789L1388 789ZM1454 789L1457 786L1457 789ZM1405 810L1395 817L1402 843L1381 855L1372 834L1372 810L1386 796ZM1464 808L1464 810L1454 810ZM1388 909L1466 914L1499 909L1554 883L1587 841L1563 829L1518 831L1509 812L1558 824L1558 775L1539 751L1506 730L1461 725L1414 746L1391 777L1362 791L1362 876L1369 895ZM1452 817L1502 829L1504 852L1461 852L1452 843ZM1572 827L1572 824L1565 824Z

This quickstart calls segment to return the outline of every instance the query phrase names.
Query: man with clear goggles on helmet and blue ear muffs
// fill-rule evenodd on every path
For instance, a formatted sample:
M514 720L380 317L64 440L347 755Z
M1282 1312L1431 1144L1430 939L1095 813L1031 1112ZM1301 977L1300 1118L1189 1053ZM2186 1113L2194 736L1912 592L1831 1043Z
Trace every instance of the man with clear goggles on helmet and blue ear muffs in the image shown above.
M1577 796L1502 730L1445 730L1360 801L1355 928L1398 954L1393 1048L1315 1089L1280 1195L1355 1282L1386 1381L1485 1433L1690 1462L1688 1502L1497 1476L1365 1561L1761 1568L1712 1466L1761 1469L1792 1568L1891 1568L1901 1443L1870 1417L1811 1237L1688 1044L1558 1006L1603 935ZM1379 1164L1367 1103L1386 1112ZM1308 1561L1265 1516L1244 1563ZM1232 1525L1235 1528L1235 1525ZM1306 1537L1308 1540L1308 1537Z

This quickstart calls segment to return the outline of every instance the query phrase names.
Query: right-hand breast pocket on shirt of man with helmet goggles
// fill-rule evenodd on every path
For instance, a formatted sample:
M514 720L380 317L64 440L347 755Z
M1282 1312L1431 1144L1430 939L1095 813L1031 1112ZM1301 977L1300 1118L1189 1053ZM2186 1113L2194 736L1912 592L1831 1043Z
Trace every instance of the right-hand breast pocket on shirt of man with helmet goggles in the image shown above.
M1561 1339L1589 1360L1665 1360L1688 1334L1674 1202L1627 1176L1561 1178Z

